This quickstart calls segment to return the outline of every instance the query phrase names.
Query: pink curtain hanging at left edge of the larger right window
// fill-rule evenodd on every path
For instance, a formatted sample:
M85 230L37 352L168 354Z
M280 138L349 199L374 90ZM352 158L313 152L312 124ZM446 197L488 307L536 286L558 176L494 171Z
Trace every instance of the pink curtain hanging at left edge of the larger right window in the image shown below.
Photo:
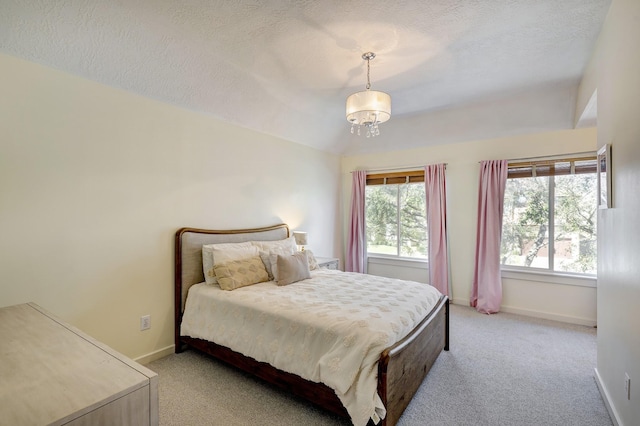
M502 303L500 241L507 160L482 161L478 188L476 263L471 306L485 314L496 313Z

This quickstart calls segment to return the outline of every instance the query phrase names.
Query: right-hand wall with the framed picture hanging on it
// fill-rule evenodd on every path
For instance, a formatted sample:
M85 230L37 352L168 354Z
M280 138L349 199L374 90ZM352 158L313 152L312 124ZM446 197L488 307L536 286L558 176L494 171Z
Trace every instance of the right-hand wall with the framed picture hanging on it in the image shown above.
M614 0L598 41L598 146L613 208L598 215L598 380L621 425L640 424L640 2ZM631 399L624 388L631 378Z

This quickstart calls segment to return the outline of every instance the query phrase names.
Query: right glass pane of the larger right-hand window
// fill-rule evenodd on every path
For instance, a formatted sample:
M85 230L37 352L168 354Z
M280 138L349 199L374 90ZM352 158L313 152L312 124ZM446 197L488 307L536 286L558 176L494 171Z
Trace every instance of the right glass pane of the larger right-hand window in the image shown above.
M554 269L595 274L596 175L556 176L555 179Z

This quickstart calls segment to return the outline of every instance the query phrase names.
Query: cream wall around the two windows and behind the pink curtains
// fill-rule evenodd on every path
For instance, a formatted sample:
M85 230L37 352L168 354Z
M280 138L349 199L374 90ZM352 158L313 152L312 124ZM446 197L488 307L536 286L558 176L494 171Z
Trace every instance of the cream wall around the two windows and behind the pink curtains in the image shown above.
M589 128L344 157L342 186L343 203L346 206L343 218L345 234L349 215L351 171L447 163L447 226L451 253L452 296L454 303L468 305L475 255L478 162L595 151L596 137L596 130ZM391 269L374 265L369 271L399 276L397 269L397 266ZM411 272L414 273L415 271ZM428 281L426 270L421 281ZM503 279L501 309L577 324L595 324L595 287L577 286L574 285L575 282L549 284L549 281L549 277L544 276L521 279L513 278L512 275L512 278Z

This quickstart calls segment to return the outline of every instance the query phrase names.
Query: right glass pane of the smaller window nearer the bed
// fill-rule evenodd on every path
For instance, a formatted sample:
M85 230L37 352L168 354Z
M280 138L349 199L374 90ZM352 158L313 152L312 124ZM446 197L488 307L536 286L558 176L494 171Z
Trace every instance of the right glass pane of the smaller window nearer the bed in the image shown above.
M400 256L427 258L424 183L400 185Z

